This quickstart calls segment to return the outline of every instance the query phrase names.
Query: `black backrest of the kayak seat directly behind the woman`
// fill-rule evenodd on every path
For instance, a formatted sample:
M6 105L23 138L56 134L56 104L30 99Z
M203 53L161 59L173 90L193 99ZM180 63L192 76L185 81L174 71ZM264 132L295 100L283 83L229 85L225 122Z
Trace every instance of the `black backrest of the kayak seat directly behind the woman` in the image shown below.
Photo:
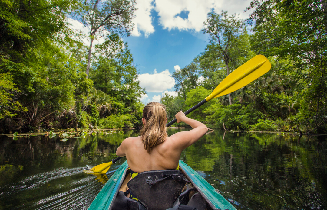
M139 173L127 186L146 210L166 210L173 207L187 182L179 170L156 170Z

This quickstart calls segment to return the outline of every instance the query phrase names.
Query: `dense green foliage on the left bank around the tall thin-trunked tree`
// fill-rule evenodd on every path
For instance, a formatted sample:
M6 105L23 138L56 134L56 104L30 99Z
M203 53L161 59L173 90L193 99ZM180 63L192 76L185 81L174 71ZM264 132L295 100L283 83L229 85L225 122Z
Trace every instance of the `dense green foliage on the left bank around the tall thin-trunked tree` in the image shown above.
M70 11L81 12L79 2L1 0L0 7L1 132L137 125L144 90L119 37L128 27L114 27L116 33L95 46L88 79L88 49L67 19Z

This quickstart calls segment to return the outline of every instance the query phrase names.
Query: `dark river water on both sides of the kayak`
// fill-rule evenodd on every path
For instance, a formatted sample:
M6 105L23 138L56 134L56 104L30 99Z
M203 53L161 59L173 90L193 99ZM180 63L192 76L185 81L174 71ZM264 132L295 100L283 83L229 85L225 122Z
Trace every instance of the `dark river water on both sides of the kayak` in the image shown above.
M184 130L169 129L169 135ZM0 210L87 209L103 184L82 170L110 162L120 143L137 135L127 130L66 142L0 136ZM181 160L237 209L327 208L322 137L214 131L185 149Z

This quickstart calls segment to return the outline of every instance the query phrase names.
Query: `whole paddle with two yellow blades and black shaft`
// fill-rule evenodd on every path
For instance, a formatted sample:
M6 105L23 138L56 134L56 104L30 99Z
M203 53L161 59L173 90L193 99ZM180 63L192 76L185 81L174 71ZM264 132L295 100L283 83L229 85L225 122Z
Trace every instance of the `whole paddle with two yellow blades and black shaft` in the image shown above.
M205 99L203 99L200 103L192 107L191 109L184 112L185 115L191 113L192 111L196 110L201 105L205 104L206 102L210 101L213 98L217 98L220 96L225 96L229 93L234 92L235 90L244 87L245 85L253 82L254 80L258 79L265 73L267 73L271 68L271 64L268 59L263 55L256 55L247 61L245 64L240 66L239 68L235 69L232 73L230 73L218 86L215 88L214 91ZM169 127L172 124L176 123L177 120L174 119L166 126ZM106 173L110 166L119 160L122 157L118 157L113 159L109 163L102 163L100 165L95 166L91 170L84 171L85 173Z

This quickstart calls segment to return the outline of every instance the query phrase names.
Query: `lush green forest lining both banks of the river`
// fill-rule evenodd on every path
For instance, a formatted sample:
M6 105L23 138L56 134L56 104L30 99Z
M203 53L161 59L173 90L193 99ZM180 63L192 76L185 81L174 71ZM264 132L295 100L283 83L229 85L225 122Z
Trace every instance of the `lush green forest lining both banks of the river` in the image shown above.
M146 90L122 41L133 29L134 0L0 0L0 8L1 133L140 126ZM174 72L178 96L161 98L168 120L263 54L268 73L190 117L210 128L327 134L327 2L253 0L244 9L247 20L208 14L206 48ZM90 26L89 46L68 17Z

